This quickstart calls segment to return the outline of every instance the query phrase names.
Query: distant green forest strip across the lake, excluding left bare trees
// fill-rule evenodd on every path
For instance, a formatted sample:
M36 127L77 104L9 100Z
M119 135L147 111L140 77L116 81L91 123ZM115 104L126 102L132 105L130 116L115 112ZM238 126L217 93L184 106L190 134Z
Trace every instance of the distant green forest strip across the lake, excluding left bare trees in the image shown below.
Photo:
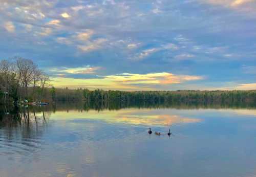
M47 89L54 101L81 101L99 105L157 105L157 104L250 104L256 105L253 91L104 91L77 89Z

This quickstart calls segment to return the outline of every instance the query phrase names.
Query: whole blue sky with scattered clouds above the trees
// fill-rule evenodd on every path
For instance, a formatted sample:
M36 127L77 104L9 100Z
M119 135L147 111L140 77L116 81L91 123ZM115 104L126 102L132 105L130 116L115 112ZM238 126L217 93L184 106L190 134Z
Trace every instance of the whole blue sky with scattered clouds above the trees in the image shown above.
M0 0L0 59L55 87L256 90L256 0Z

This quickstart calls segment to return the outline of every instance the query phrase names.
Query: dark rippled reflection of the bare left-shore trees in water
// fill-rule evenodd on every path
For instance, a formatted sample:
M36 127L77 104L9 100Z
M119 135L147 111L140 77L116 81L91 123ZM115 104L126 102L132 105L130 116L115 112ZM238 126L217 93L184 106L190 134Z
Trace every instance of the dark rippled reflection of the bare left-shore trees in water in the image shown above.
M0 139L4 143L1 144L0 154L38 154L43 147L41 137L49 117L44 108L0 110Z

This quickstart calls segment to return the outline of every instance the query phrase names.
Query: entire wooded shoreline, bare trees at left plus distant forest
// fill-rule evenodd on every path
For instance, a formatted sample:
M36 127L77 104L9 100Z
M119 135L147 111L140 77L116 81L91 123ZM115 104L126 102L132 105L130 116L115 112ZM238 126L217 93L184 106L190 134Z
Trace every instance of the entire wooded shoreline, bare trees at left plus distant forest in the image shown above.
M48 87L49 76L32 60L14 57L0 61L0 104L33 101L79 101L86 104L256 104L253 91L103 91Z

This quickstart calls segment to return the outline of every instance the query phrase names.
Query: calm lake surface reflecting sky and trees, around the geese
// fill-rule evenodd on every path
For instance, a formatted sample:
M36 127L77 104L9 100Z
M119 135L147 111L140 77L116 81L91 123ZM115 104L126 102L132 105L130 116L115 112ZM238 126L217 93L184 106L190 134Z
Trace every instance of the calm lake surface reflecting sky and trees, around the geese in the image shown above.
M1 177L256 176L256 109L23 110L2 115Z

